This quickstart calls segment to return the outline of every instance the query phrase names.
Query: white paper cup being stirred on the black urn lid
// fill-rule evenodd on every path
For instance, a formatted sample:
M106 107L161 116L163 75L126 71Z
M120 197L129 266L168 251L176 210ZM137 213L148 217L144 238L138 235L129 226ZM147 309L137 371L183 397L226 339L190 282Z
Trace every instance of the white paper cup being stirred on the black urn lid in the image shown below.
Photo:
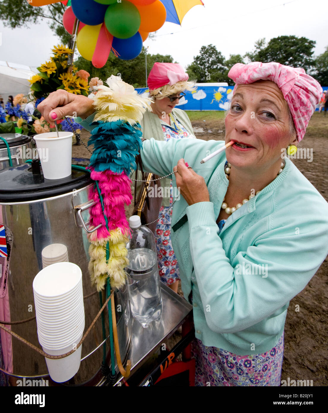
M47 132L35 135L43 176L46 179L61 179L72 173L73 132Z

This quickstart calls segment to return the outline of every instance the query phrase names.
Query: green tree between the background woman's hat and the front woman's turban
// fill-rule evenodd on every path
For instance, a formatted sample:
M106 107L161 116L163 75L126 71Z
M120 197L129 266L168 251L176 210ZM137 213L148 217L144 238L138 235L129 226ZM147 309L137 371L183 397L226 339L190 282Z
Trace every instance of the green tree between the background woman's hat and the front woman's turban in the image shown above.
M193 62L186 69L191 80L198 83L222 82L227 67L224 57L213 45L202 46L199 55L193 57Z

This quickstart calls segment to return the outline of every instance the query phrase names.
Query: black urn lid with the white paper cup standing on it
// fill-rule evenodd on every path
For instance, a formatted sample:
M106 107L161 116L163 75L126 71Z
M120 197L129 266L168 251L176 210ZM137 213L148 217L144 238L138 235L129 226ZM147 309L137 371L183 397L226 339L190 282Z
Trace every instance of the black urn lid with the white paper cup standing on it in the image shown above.
M72 164L87 166L89 159L73 158ZM90 173L72 167L72 174L62 179L45 179L38 161L9 166L0 171L0 203L28 202L66 194L92 183Z

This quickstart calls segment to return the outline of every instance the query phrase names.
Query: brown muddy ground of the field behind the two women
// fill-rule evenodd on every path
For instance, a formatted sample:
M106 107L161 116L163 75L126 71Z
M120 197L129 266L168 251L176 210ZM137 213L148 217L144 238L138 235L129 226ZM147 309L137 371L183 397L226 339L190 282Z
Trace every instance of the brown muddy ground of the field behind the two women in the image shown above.
M224 122L203 120L192 122L198 139L224 140ZM81 138L87 143L90 136L83 131ZM293 160L297 168L315 186L328 201L328 116L315 113L307 133L299 147L309 148L312 161ZM309 152L311 154L311 152ZM84 146L73 146L73 157L89 158L90 153ZM127 216L132 207L126 208ZM311 208L309 207L309 213ZM182 296L181 288L179 294ZM295 306L300 311L295 311ZM285 325L285 351L281 380L313 380L313 386L328 385L328 259L311 279L309 284L298 294L288 308ZM176 332L168 341L170 348L181 339Z

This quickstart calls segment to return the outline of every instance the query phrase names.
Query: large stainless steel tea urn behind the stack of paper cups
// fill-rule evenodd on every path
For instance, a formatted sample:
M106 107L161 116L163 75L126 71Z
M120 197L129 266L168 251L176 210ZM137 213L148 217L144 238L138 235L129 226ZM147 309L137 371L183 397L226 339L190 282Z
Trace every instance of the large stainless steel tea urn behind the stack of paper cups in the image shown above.
M14 237L5 297L0 300L7 300L2 304L9 306L11 321L35 316L32 282L42 269L42 249L54 243L66 245L68 261L77 264L82 270L85 331L97 315L100 297L96 288L91 287L88 272L89 242L77 214L79 212L84 221L88 220L88 192L93 185L88 172L76 169L72 169L71 176L59 180L44 179L42 171L33 171L31 164L16 165L0 171L0 223L7 226ZM76 209L77 206L80 207ZM114 298L120 355L124 364L131 340L126 285L116 290ZM107 309L104 313L107 320L106 360L110 364ZM40 348L35 319L11 325L11 329ZM14 377L37 378L48 374L43 356L14 337L10 340ZM80 369L66 385L97 386L105 383L104 375L101 374L102 342L99 317L83 342ZM46 378L50 381L49 377Z

